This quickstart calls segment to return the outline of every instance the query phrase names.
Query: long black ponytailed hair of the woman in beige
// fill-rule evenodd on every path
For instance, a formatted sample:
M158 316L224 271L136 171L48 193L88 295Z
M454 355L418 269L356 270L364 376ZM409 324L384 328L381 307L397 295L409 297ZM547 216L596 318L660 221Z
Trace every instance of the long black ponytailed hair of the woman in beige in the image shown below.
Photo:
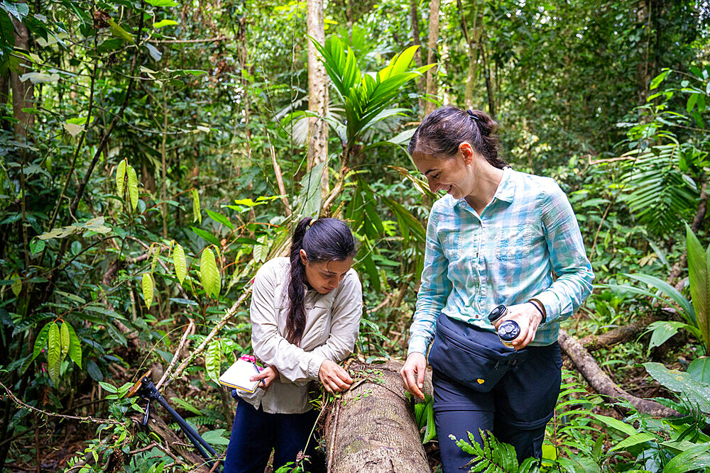
M304 250L308 261L343 261L355 256L355 238L345 222L337 218L303 218L293 232L291 241L291 280L288 284L290 308L286 319L286 340L299 345L306 326L306 268L301 261Z

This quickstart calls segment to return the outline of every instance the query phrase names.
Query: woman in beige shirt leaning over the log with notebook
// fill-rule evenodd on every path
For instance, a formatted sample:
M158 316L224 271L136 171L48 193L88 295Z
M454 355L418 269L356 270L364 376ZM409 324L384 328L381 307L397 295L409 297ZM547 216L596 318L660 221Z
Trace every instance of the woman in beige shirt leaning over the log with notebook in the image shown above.
M290 258L274 258L256 273L251 345L266 368L252 378L263 380L260 389L233 394L241 399L224 473L262 473L272 448L274 471L295 461L317 418L308 384L320 380L329 393L351 386L337 363L355 346L362 313L354 255L355 240L344 222L307 217L293 234Z

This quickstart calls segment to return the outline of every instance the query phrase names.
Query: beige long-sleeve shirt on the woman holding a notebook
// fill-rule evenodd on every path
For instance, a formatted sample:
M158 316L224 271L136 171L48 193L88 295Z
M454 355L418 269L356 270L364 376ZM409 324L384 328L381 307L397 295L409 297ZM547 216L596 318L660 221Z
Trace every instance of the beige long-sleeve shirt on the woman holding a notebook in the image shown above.
M310 411L308 384L318 379L324 360L341 362L355 346L362 315L362 286L350 269L336 289L320 294L306 291L306 325L299 346L284 337L290 301L290 261L278 257L256 272L251 294L251 346L265 365L272 365L280 379L264 391L261 387L241 399L268 413Z

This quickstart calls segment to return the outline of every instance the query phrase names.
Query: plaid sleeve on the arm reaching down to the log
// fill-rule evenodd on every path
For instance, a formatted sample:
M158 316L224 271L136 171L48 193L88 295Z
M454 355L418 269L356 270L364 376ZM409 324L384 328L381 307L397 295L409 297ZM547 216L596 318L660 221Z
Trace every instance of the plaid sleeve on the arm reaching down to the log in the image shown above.
M422 284L417 294L417 308L410 327L409 348L412 352L427 354L427 348L434 338L437 318L452 291L447 268L449 260L444 255L437 238L436 204L432 208L427 223L427 238L422 269Z

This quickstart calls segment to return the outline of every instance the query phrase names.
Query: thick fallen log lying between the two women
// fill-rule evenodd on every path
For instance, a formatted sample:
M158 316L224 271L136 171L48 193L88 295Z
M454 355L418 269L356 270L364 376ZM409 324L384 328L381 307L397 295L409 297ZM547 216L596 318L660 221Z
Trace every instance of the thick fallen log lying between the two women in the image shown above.
M329 473L428 472L410 401L399 370L403 362L346 365L366 376L346 391L326 415L324 440ZM370 372L368 372L370 371ZM431 376L425 381L431 394Z

